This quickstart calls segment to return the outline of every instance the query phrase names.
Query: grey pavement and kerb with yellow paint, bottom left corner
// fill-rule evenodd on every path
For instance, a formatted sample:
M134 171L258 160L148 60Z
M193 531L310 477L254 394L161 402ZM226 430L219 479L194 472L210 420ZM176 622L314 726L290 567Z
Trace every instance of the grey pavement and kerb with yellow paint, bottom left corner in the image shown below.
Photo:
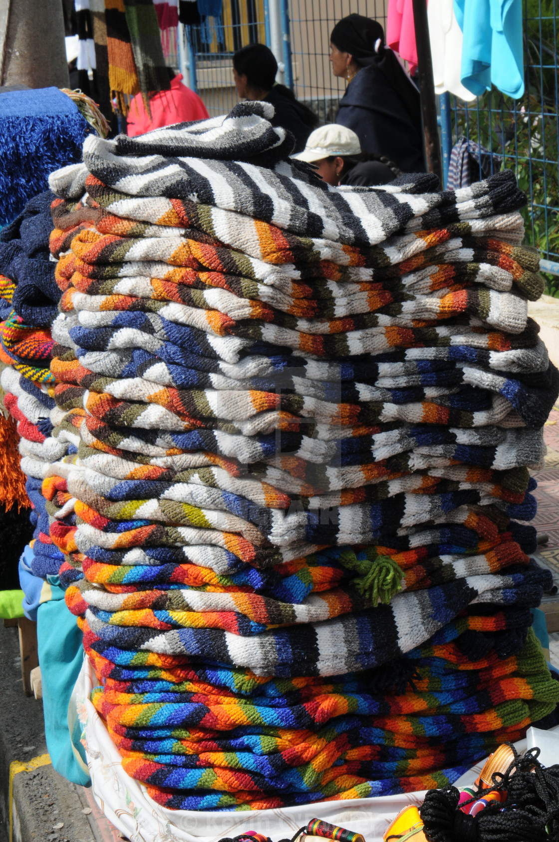
M0 842L122 842L90 789L52 768L43 703L24 695L17 628L0 625Z

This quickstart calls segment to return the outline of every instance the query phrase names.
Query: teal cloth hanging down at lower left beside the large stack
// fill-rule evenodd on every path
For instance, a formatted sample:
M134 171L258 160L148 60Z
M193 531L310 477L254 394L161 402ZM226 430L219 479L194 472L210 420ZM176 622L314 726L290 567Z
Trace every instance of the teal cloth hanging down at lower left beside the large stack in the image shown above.
M83 746L79 742L79 735L71 734L68 725L68 706L83 663L82 637L76 617L67 609L64 600L52 600L39 605L37 642L43 685L46 747L52 765L60 775L74 784L89 786L91 781ZM75 749L83 763L78 761Z

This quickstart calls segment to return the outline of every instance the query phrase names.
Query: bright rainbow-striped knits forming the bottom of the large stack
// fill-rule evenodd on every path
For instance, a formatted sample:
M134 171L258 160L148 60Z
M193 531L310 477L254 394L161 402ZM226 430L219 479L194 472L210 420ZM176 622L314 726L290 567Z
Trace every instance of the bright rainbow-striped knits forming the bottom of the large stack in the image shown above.
M91 653L89 646L96 645L95 638L86 632L84 639ZM457 765L472 752L483 751L482 747L487 750L487 745L494 743L492 735L485 732L486 727L497 728L497 740L514 738L514 734L522 732L521 717L537 716L539 711L546 710L543 701L546 696L551 693L553 698L552 683L538 679L542 656L531 632L518 656L500 662L494 658L480 660L471 664L466 673L456 672L456 667L446 659L424 657L429 653L420 649L412 654L410 663L416 669L414 690L406 695L393 692L382 695L380 689L373 690L371 695L371 689L382 684L381 676L375 672L368 676L366 690L365 686L360 689L356 676L349 675L338 685L318 685L316 679L311 685L303 685L303 679L297 679L295 685L288 686L285 681L278 685L276 681L260 685L258 690L252 682L252 692L247 686L238 695L242 681L238 671L236 674L226 674L224 670L201 674L198 671L197 674L192 669L184 669L177 679L166 673L167 680L163 681L156 679L152 669L150 676L155 680L139 677L138 682L130 685L130 679L121 680L124 675L118 667L97 657L98 669L108 677L104 694L96 693L93 698L107 717L110 733L124 754L125 768L148 785L173 781L174 792L162 792L153 786L150 792L168 806L183 808L231 808L242 803L251 807L279 806L285 801L297 803L336 797L336 791L348 785L345 777L348 767L342 768L339 775L330 775L327 770L348 762L361 797L389 788L405 791L417 786L418 781L426 781L429 773L444 781L448 773L435 772L434 765L440 768L448 761ZM113 680L110 674L119 677ZM233 686L238 688L235 695L220 689L220 685L231 685L232 679ZM519 691L521 685L524 690ZM130 696L126 692L130 690L136 691L136 706L130 707L128 702ZM517 698L526 701L520 704L504 701L511 690L518 694ZM292 700L287 704L286 693ZM455 702L445 708L449 693ZM487 704L486 700L482 701L487 694L497 704L486 707L482 716L474 713L480 704L482 707ZM166 704L173 695L177 697L176 704ZM195 699L195 704L189 703L189 697ZM422 716L419 711L428 712L437 697L443 706L434 732L429 716ZM543 704L536 701L538 698ZM336 702L344 711L341 717L335 715ZM120 724L122 705L127 714L126 724ZM379 715L383 706L386 713ZM166 709L169 715L174 711L173 722L167 725L157 712ZM375 724L371 727L368 711L373 709ZM469 714L464 717L459 711L466 709ZM202 723L208 722L210 716L213 730L195 724L200 722L200 717ZM478 733L468 733L473 719L477 720ZM237 724L247 721L250 725ZM274 722L281 724L277 727ZM316 722L314 727L311 722ZM443 734L447 736L444 748L439 744L434 753L439 735ZM368 741L366 747L364 739ZM236 760L235 772L231 770L232 754ZM404 769L408 775L401 776L399 781L390 780L390 775L401 775ZM213 781L213 793L196 791L206 789L208 774ZM366 781L365 776L371 774L378 780ZM196 786L194 781L200 784ZM287 781L292 793L286 799ZM333 786L326 786L329 782ZM246 789L242 791L242 787ZM269 791L263 797L258 793L260 789Z

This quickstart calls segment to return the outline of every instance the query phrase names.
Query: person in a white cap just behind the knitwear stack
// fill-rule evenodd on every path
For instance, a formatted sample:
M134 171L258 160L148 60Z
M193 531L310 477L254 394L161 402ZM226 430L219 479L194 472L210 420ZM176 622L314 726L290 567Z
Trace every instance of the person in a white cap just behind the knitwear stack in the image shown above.
M372 187L388 184L400 175L396 164L388 158L361 152L355 132L337 123L311 131L306 147L293 157L314 164L321 179L333 187L339 184Z

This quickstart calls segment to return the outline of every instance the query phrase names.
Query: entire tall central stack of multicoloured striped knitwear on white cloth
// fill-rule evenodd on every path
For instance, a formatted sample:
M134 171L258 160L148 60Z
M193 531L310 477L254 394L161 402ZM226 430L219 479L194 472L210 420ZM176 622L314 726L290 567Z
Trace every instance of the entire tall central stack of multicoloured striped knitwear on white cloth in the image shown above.
M524 195L329 188L270 108L89 137L51 177L78 447L51 536L94 704L168 807L442 786L559 700Z

